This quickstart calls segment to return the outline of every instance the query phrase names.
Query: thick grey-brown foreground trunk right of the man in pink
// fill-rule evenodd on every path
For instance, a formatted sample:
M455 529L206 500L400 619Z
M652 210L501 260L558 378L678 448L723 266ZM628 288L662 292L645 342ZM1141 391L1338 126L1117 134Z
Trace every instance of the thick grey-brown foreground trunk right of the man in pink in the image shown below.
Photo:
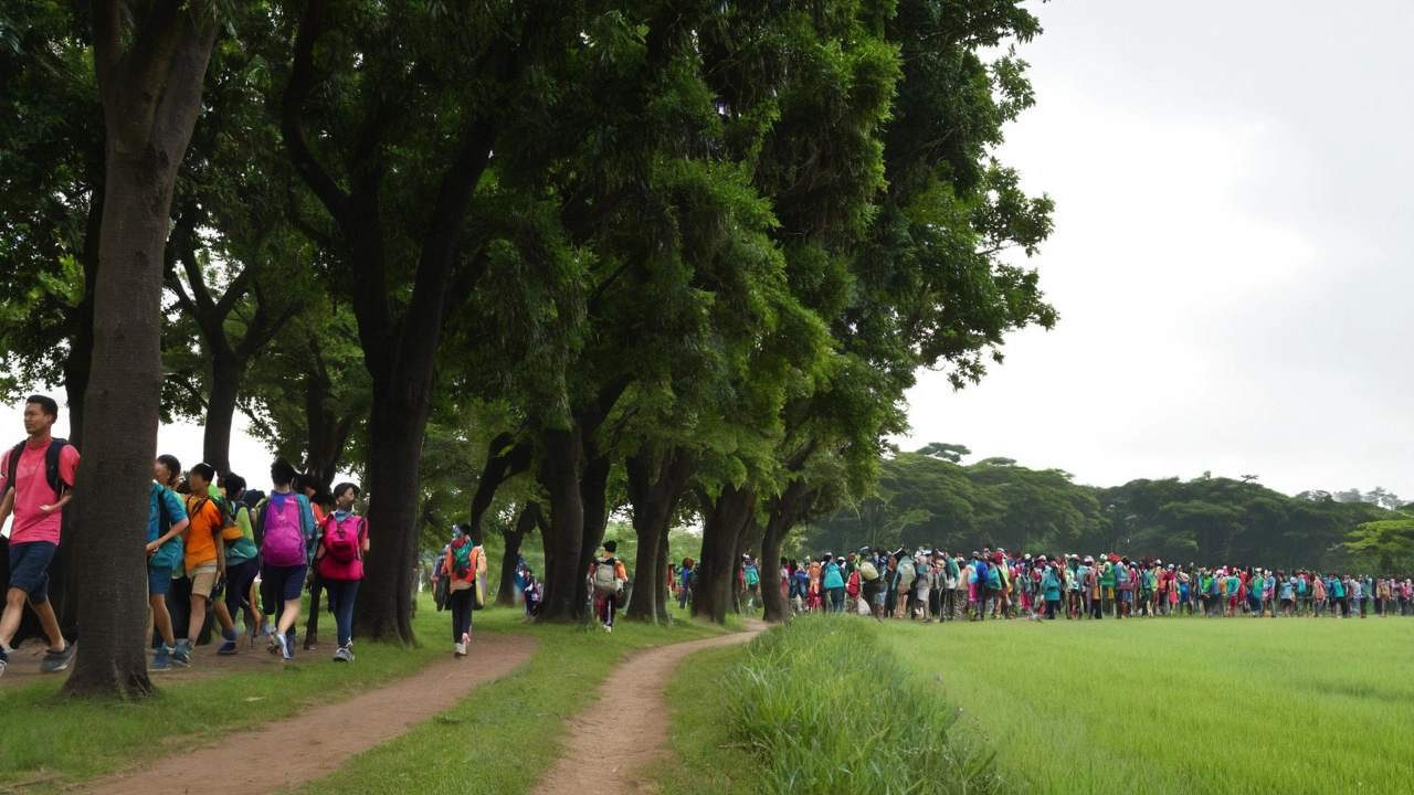
M163 249L177 167L201 112L216 23L157 1L124 52L124 11L93 1L93 65L103 100L103 226L93 290L93 368L75 484L75 567L83 654L64 692L143 697L147 676L147 487L163 392Z

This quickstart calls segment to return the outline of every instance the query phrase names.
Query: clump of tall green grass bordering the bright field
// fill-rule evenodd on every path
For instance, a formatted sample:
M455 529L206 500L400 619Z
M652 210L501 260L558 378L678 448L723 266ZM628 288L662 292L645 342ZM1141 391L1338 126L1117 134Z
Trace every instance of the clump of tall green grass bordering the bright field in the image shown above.
M732 736L772 792L984 794L1003 782L962 736L959 710L921 682L871 621L796 618L752 641L725 675Z

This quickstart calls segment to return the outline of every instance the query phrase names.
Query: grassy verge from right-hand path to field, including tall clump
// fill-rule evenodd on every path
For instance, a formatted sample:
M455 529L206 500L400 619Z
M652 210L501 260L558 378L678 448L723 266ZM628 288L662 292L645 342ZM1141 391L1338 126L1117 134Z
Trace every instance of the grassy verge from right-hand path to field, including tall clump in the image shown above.
M956 706L918 680L872 622L800 618L690 659L669 690L673 792L995 792Z

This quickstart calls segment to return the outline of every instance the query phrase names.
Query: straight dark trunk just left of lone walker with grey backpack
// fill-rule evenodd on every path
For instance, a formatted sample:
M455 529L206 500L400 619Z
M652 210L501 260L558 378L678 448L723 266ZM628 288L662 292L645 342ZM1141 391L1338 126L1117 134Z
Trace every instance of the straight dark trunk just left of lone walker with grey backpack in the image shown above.
M580 580L580 552L584 545L584 501L580 495L580 433L578 429L546 430L540 434L544 460L540 464L540 485L550 501L550 529L544 533L544 600L540 621L571 621L583 611L575 604L583 591Z

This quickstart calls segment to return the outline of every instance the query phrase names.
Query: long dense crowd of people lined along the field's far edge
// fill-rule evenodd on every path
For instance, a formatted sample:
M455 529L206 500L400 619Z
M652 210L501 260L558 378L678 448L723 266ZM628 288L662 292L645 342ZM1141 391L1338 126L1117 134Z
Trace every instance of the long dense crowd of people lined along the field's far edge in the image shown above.
M744 587L749 603L751 588ZM1309 570L1184 567L1120 555L971 556L864 547L799 563L781 562L781 594L797 613L857 611L882 618L1126 618L1249 615L1348 618L1414 615L1414 580Z

